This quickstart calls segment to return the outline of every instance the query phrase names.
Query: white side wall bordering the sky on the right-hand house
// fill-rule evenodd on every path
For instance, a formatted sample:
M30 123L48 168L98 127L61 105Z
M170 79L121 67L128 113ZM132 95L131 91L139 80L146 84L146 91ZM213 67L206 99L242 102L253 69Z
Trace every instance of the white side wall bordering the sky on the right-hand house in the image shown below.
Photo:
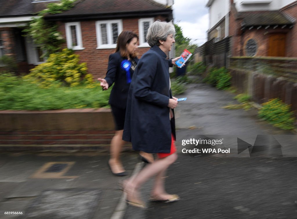
M209 29L214 27L229 12L230 0L214 0L209 7Z

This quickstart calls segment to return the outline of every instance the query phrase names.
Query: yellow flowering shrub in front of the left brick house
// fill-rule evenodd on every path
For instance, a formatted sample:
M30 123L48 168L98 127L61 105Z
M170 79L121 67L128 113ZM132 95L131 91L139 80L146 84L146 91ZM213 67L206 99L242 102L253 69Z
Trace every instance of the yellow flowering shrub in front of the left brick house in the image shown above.
M79 55L73 50L63 49L59 53L50 54L48 60L31 69L24 78L33 79L43 87L61 84L77 86L94 83L91 74L87 74L86 63L79 63Z

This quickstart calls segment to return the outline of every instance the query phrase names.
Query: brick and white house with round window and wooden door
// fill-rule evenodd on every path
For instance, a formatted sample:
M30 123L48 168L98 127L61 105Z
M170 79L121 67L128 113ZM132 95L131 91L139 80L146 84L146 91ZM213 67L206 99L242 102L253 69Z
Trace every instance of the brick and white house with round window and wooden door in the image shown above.
M230 38L230 56L297 57L297 1L209 0L208 40Z

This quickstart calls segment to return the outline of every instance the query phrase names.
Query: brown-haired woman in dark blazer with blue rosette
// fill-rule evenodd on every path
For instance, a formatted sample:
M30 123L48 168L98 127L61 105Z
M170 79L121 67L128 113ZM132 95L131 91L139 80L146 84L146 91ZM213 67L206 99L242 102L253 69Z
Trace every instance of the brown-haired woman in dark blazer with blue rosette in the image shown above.
M98 78L103 90L107 90L114 83L110 92L109 104L111 105L115 121L116 134L110 143L108 165L111 172L116 176L127 175L119 156L121 148L125 143L122 140L122 134L128 91L133 72L139 61L136 53L137 47L138 36L132 31L122 31L117 40L115 53L109 56L106 77L104 79Z

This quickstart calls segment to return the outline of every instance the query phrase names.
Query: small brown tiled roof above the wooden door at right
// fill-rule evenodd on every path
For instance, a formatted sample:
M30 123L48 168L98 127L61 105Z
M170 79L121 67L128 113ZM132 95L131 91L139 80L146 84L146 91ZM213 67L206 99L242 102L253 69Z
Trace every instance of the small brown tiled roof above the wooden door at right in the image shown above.
M239 17L243 18L242 26L293 24L289 18L279 11L239 12Z

